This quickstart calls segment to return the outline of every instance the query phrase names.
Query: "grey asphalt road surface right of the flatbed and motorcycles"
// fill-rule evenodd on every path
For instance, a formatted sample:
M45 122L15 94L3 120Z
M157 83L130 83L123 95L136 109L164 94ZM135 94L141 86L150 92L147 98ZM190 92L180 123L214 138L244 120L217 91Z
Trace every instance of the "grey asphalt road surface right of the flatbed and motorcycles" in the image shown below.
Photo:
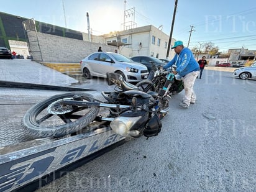
M37 192L256 191L255 86L204 70L196 104L180 109L184 93L175 95L157 137L130 140Z

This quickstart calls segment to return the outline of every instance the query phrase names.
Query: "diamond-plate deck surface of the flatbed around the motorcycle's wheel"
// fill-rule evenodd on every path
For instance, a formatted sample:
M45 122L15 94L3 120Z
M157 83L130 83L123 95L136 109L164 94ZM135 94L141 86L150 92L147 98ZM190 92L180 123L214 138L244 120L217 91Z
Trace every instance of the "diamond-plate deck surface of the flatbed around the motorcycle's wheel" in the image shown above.
M15 145L30 140L21 128L25 112L35 103L63 91L45 91L34 89L0 88L0 147ZM88 93L102 99L99 91Z

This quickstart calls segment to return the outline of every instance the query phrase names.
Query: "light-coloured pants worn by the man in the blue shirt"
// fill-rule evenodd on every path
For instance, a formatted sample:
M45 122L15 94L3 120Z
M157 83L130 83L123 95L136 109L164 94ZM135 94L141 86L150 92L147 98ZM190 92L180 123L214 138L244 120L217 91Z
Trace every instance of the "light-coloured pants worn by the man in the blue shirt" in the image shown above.
M190 102L194 103L196 101L196 94L194 94L193 86L198 74L199 71L192 71L182 78L185 90L185 96L182 102L186 103L188 106L190 106Z

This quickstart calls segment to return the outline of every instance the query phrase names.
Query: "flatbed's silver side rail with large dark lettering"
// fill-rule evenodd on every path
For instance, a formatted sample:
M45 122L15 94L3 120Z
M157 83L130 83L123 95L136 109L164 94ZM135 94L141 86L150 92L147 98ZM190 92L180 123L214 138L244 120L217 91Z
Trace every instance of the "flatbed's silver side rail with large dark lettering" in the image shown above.
M80 134L61 139L34 139L2 147L0 191L21 190L34 181L39 181L34 186L38 188L42 185L40 179L43 177L124 140L109 127L96 127L103 126L92 124L91 129L95 130L91 132L81 131ZM35 188L28 187L25 191Z

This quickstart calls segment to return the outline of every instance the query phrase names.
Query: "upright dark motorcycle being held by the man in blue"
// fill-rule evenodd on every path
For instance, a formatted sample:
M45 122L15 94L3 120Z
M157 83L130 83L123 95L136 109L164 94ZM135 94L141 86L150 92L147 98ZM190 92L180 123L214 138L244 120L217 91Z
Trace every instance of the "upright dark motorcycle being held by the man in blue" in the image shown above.
M147 80L140 81L136 86L142 89L145 93L155 91L160 95L166 93L170 97L173 94L178 94L184 89L184 86L183 82L177 80L175 75L171 73L172 70L175 70L175 66L173 66L170 71L158 68L154 71L152 76Z

